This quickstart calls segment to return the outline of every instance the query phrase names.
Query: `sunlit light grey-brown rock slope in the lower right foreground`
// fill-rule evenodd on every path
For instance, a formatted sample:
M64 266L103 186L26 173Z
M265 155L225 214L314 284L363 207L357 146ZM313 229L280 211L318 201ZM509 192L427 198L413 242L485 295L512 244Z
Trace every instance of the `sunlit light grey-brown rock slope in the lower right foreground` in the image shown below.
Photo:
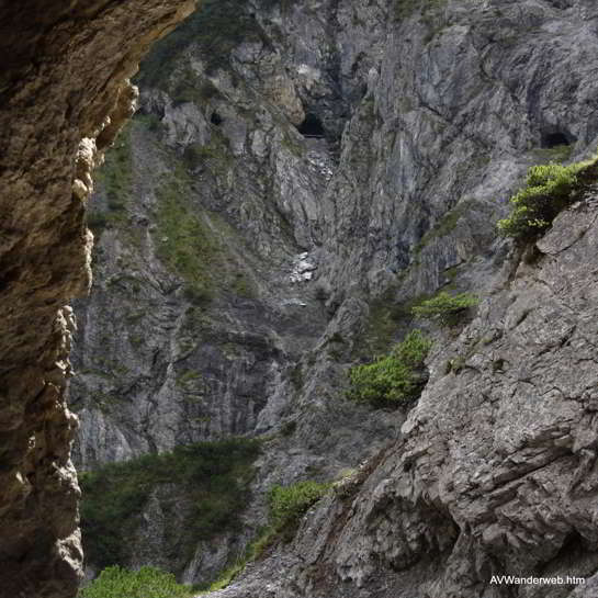
M430 357L403 438L215 596L594 596L597 216L590 194L533 263L511 256L477 317ZM490 584L504 574L587 583Z

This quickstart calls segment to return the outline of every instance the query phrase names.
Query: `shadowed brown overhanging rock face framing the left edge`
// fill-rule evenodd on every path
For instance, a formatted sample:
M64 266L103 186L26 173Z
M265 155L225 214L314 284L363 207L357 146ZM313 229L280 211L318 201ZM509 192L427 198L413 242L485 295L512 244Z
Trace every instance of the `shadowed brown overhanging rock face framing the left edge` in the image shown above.
M90 283L90 170L127 82L189 0L0 2L0 596L68 597L81 549L64 402L72 297Z

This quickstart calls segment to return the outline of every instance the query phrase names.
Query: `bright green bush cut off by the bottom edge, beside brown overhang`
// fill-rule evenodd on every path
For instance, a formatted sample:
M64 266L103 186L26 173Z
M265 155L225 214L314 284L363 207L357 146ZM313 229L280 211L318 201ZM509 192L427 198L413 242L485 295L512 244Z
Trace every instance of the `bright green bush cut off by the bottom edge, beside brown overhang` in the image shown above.
M108 567L78 598L191 598L191 588L181 586L171 573L154 567L131 572L119 566Z

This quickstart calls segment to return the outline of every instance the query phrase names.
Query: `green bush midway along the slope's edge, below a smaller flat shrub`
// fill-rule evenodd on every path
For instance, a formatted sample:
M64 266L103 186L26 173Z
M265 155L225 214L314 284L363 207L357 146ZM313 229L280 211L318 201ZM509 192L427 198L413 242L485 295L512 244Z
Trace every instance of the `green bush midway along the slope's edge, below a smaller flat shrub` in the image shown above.
M424 360L432 346L419 330L413 330L387 356L349 370L348 397L376 407L415 398L426 382Z

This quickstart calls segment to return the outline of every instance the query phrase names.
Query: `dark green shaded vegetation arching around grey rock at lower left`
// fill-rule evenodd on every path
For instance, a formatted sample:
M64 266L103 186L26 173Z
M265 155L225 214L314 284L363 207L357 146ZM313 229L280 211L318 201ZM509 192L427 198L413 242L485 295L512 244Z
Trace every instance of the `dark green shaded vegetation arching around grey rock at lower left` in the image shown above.
M124 562L127 539L160 484L177 485L179 497L173 495L172 500L179 503L184 496L193 505L177 543L192 548L198 540L237 529L259 452L258 441L242 438L200 442L81 474L81 527L88 558L102 567Z

